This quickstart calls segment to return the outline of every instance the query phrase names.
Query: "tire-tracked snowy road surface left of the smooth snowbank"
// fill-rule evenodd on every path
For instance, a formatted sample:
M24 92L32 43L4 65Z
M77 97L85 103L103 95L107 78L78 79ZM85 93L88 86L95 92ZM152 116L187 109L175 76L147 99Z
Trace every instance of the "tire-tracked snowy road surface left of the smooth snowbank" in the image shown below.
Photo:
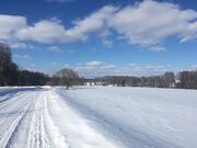
M24 92L2 102L0 148L69 148L48 113L48 92Z

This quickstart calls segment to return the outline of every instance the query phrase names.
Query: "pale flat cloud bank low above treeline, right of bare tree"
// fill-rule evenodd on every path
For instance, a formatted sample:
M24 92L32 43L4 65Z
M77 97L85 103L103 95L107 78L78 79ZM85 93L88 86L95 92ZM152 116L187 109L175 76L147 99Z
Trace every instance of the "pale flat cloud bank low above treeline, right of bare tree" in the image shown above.
M103 61L89 61L80 65L69 65L85 78L102 76L152 76L171 70L170 65L113 65Z

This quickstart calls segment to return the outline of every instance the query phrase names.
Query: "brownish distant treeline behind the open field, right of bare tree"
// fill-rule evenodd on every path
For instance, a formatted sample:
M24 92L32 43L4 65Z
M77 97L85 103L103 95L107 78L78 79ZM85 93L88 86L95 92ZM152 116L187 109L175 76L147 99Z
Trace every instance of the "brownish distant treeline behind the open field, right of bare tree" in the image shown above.
M117 87L197 89L197 71L181 71L176 78L174 72L165 72L161 76L150 77L106 76L86 79L85 83L102 86L112 84Z

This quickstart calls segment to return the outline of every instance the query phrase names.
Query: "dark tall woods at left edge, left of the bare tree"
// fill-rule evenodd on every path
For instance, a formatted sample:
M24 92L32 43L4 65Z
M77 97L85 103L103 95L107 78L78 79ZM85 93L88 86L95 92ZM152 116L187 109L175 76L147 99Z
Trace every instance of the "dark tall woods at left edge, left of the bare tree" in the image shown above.
M44 86L49 80L47 75L20 70L12 61L11 49L0 43L0 87L4 86Z

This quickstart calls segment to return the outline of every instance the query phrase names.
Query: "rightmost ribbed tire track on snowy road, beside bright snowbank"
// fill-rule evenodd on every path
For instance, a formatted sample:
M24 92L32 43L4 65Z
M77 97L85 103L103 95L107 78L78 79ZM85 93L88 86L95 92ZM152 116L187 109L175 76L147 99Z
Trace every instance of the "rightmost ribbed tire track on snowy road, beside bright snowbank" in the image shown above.
M48 99L50 99L48 91L43 92L36 99L26 148L69 148L65 137L59 133L58 127L49 116Z

